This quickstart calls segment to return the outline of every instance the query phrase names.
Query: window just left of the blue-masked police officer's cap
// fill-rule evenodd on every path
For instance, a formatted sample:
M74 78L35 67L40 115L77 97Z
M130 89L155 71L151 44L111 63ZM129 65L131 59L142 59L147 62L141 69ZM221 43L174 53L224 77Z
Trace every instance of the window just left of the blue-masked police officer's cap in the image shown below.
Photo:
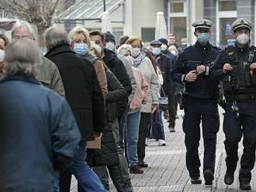
M175 34L176 43L187 38L187 2L186 0L171 0L168 5L168 32Z

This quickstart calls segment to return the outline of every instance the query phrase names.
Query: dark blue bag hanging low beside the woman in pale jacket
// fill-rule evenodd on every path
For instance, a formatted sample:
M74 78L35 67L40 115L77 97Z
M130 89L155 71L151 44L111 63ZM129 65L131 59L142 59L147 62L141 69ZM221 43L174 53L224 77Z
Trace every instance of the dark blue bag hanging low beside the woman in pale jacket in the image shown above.
M159 113L158 111L155 112L154 115L151 115L150 118L150 139L164 139L163 130L164 125L159 122Z

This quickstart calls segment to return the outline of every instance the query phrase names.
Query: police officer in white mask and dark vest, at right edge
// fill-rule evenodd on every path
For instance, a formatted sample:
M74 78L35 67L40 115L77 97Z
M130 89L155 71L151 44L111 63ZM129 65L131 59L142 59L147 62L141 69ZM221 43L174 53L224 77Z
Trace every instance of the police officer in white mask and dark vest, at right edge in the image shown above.
M255 161L256 146L256 57L255 47L250 46L251 22L237 19L232 24L235 46L228 46L210 70L210 77L223 81L226 99L223 131L227 158L224 181L234 182L237 167L238 143L244 135L244 153L240 161L239 181L241 190L251 190L251 170Z

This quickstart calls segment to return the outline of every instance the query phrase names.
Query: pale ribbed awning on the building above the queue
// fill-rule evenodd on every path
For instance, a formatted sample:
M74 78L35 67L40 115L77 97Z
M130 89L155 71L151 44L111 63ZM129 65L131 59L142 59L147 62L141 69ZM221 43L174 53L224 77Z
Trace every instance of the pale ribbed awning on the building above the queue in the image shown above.
M106 12L110 14L124 4L124 0L106 0ZM102 0L76 1L68 9L57 15L55 22L85 21L102 19L104 5Z

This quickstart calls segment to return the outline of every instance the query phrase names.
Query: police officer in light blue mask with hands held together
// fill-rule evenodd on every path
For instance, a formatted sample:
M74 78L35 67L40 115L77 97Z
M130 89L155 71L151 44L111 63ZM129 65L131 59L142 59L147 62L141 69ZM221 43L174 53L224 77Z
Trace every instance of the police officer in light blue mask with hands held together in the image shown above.
M212 22L207 19L192 23L197 41L194 45L182 50L175 68L171 70L175 82L185 83L183 94L185 116L186 166L192 184L202 183L199 167L200 122L204 139L203 173L206 185L213 184L213 173L216 157L216 134L220 127L217 95L218 81L209 78L209 67L216 60L220 48L209 43Z

